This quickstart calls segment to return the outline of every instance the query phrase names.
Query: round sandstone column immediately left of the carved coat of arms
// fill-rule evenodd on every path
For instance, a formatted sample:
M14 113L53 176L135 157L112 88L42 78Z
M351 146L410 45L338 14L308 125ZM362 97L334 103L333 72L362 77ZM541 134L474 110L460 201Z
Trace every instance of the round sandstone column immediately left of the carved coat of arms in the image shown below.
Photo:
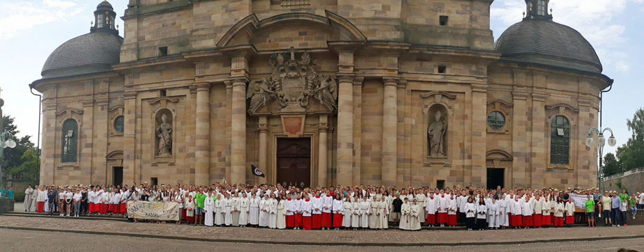
M231 184L246 183L246 79L233 79L231 102Z

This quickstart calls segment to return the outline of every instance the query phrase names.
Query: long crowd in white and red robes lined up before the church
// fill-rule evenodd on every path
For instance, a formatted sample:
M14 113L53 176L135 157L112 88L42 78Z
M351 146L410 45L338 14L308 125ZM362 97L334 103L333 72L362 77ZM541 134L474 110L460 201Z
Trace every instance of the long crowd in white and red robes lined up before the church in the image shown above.
M572 194L588 200L576 207ZM622 192L558 189L446 189L397 187L316 187L300 189L268 184L132 184L120 186L29 187L25 209L61 216L111 214L127 216L129 200L175 202L176 222L205 226L254 226L291 229L402 230L458 226L468 230L562 227L575 223L583 208L588 226L604 210L606 224L626 225L625 211L644 207L644 191ZM598 196L599 195L599 196ZM608 215L610 214L610 215ZM141 221L132 219L132 221ZM578 219L581 221L581 219ZM158 221L164 222L164 221Z

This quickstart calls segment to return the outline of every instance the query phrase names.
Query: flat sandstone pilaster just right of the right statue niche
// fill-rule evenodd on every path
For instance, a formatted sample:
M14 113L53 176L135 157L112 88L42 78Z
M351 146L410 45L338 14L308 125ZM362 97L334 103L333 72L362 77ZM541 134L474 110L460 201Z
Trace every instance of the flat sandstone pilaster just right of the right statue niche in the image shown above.
M484 187L487 183L486 132L487 84L472 84L472 184Z

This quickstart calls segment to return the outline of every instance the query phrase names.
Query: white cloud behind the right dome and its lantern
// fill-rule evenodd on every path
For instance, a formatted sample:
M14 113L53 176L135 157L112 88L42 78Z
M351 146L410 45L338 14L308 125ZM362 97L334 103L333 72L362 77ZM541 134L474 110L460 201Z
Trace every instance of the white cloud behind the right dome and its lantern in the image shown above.
M570 26L579 31L595 47L602 63L615 64L616 69L628 71L629 54L619 50L626 44L624 37L626 24L615 24L618 17L627 10L629 3L643 3L644 0L553 0L549 8L553 10L555 22ZM498 19L505 26L521 21L521 13L526 10L524 1L498 0L490 10L492 19Z

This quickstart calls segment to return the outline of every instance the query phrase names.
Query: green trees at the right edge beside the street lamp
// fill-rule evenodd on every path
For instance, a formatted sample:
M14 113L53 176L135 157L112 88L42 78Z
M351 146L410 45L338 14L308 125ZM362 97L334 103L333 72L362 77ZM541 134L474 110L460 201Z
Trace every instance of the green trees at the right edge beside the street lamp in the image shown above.
M626 125L631 131L631 138L616 152L624 171L644 167L644 109L638 109Z

